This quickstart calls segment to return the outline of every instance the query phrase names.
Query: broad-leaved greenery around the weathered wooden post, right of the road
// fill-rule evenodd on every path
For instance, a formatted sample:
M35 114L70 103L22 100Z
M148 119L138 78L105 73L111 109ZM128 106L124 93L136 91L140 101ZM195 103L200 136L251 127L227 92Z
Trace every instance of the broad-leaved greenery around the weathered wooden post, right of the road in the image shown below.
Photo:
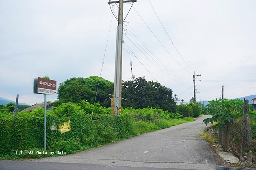
M248 106L248 110L250 109L252 109L252 105ZM214 124L213 128L219 130L219 143L223 149L227 151L231 147L234 154L239 155L241 148L238 145L242 138L243 101L239 99L212 100L209 101L204 112L212 115L212 117L204 119L203 123L206 125L208 123ZM250 115L252 117L254 114L250 113ZM251 127L252 129L255 128L254 121L252 121Z

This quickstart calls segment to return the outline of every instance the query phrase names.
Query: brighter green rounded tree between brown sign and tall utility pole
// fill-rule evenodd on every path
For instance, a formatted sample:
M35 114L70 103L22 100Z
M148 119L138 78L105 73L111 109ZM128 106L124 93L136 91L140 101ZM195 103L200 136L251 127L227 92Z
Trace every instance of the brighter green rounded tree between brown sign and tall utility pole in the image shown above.
M95 100L96 91L97 98ZM58 87L59 103L72 102L79 103L85 100L91 104L99 102L101 106L109 107L110 100L108 94L113 94L114 84L98 76L89 78L73 77L60 83Z

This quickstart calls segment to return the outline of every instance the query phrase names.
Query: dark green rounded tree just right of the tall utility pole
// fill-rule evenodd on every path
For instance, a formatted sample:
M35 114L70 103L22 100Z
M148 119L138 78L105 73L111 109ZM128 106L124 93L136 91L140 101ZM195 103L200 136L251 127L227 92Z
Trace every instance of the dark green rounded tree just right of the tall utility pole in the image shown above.
M171 113L176 112L176 102L172 90L158 82L146 81L139 77L122 83L122 107L161 108Z

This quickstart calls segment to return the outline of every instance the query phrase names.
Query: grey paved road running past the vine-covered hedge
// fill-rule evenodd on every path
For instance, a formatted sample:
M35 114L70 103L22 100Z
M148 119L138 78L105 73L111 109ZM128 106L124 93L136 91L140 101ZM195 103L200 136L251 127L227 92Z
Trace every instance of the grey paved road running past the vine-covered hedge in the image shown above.
M20 168L27 165L31 169L216 170L222 164L199 136L206 117L63 157L0 161L0 169L15 169L20 164Z

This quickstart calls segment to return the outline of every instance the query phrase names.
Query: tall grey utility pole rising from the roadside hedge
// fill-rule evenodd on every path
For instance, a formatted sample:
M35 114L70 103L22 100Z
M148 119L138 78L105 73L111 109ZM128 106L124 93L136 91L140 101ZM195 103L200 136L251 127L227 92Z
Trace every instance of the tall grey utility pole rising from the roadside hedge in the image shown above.
M119 0L109 1L108 4L119 3L118 7L118 24L117 24L117 40L115 50L115 81L114 81L114 102L113 112L119 115L121 112L121 97L122 97L122 51L123 51L123 13L124 2L137 2L137 0ZM111 104L112 105L112 104Z

